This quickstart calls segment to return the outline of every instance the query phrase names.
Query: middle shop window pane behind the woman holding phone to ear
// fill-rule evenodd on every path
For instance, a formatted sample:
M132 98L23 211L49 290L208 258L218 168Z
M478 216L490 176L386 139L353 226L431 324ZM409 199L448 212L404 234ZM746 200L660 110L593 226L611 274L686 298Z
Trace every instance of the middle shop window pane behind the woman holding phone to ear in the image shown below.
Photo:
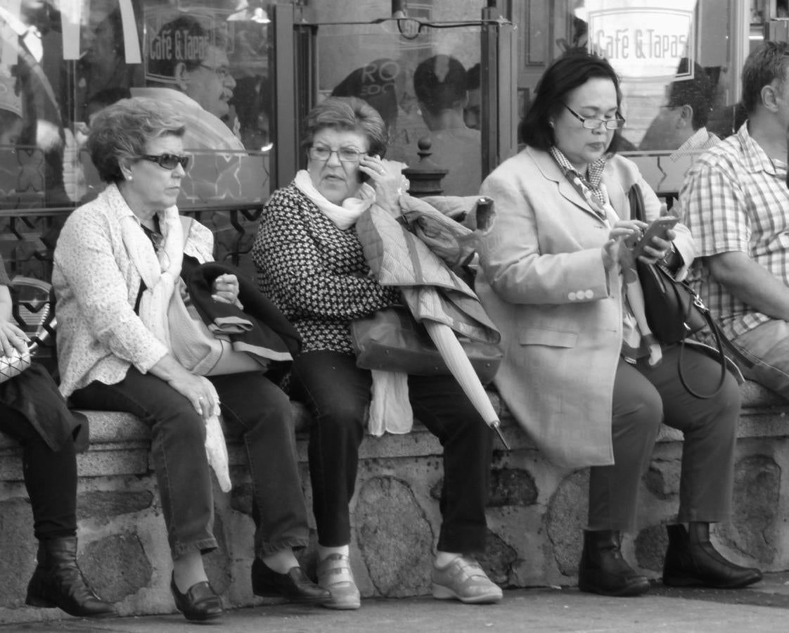
M387 158L417 167L418 143L429 140L429 159L447 170L444 193L476 195L482 181L480 122L474 116L481 28L410 26L322 24L319 98L365 99L387 124Z

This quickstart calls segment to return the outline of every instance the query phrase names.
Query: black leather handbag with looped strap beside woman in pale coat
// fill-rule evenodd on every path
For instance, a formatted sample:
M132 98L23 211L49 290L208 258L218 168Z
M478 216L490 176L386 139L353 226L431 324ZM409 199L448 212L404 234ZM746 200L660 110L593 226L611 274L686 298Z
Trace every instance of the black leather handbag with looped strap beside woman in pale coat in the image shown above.
M628 196L630 197L630 217L646 222L644 197L638 183L630 187ZM649 328L660 343L680 345L677 362L682 387L690 395L700 399L709 399L717 395L726 380L727 367L724 346L737 358L743 361L746 359L720 331L707 306L687 283L674 279L663 264L645 264L636 260L636 271L638 272L638 280L641 282L641 289L644 292L645 313ZM716 358L720 361L720 380L718 380L715 391L709 394L701 394L691 388L682 371L685 341L688 336L703 328L709 328L712 331L716 343Z

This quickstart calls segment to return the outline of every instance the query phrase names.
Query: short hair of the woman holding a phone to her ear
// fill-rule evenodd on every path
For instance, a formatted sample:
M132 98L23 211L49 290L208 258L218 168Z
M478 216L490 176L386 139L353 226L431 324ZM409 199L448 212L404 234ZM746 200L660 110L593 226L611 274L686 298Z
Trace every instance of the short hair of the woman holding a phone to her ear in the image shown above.
M359 132L367 137L369 154L383 158L387 151L387 125L378 110L357 97L327 97L309 110L305 120L301 148L312 146L312 138L321 129L331 128Z

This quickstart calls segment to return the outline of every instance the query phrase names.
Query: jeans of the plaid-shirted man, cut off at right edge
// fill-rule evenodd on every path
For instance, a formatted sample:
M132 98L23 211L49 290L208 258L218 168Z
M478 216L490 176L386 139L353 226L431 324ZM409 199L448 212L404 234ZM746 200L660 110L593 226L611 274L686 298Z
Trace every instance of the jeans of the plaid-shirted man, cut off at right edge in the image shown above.
M739 335L732 343L753 361L742 375L789 399L789 323L772 319Z

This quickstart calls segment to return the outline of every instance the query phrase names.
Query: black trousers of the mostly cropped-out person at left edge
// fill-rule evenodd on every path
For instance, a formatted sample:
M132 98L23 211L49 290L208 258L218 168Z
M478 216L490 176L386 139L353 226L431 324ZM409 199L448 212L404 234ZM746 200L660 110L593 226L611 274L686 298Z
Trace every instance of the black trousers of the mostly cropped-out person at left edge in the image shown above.
M21 374L13 380L24 380ZM0 431L22 445L22 472L39 541L77 534L77 453L64 442L53 451L17 410L0 403Z

